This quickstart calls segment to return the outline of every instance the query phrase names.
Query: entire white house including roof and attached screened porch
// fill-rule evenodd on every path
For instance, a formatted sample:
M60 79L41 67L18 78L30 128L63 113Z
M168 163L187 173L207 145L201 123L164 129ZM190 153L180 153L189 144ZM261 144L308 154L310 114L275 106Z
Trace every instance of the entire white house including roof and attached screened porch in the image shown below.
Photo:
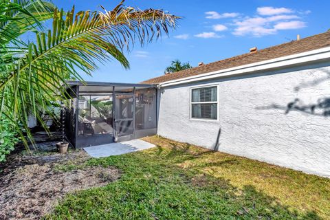
M330 177L330 32L140 84L69 85L78 148L157 133Z

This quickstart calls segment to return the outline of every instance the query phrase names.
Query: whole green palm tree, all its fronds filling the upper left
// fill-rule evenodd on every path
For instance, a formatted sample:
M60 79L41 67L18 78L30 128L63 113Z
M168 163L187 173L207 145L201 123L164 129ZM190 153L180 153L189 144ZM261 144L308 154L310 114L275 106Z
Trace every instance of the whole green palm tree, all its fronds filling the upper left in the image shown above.
M12 121L24 144L25 135L33 140L28 115L47 129L38 111L52 115L47 106L68 95L66 80L83 80L78 71L91 74L96 61L114 58L128 69L124 50L168 34L179 19L163 10L125 7L124 1L102 10L64 12L47 0L0 1L0 116ZM52 29L45 30L42 22L49 19ZM35 41L19 38L28 32L35 32Z

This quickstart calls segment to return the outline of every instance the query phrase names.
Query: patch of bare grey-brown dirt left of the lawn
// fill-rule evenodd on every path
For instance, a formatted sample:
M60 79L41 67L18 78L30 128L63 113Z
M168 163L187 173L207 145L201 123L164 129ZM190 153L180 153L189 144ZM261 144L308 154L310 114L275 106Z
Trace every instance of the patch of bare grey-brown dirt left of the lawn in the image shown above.
M0 174L0 219L41 219L68 192L104 186L120 177L114 167L82 166L85 151L65 155L12 155ZM80 166L63 171L58 166Z

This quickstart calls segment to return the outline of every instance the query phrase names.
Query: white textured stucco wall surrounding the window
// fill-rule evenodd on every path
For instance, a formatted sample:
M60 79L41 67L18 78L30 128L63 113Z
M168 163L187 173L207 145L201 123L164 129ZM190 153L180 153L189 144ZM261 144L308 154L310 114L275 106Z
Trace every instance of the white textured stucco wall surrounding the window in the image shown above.
M219 85L219 121L190 120L190 87L207 84ZM159 135L214 148L221 129L219 151L330 177L329 62L164 87L159 96ZM286 113L295 99L300 110Z

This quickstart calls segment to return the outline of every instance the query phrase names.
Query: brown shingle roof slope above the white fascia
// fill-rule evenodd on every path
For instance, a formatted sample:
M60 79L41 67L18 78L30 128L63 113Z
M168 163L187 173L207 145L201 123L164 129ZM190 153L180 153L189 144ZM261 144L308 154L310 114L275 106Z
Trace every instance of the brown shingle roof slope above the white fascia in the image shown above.
M217 61L214 63L201 65L199 67L185 69L172 74L151 78L149 80L143 81L142 83L146 83L146 84L164 83L170 80L177 80L180 78L196 76L199 74L206 74L221 69L239 67L241 65L248 65L251 63L267 61L282 56L299 54L329 46L330 46L330 32L325 32L322 34L316 34L314 36L306 37L305 39L300 39L299 41L291 41L289 43L283 43L273 47L267 47L263 50L258 50L258 52L255 53L242 54L239 56L234 56L232 58L226 58L224 60Z

